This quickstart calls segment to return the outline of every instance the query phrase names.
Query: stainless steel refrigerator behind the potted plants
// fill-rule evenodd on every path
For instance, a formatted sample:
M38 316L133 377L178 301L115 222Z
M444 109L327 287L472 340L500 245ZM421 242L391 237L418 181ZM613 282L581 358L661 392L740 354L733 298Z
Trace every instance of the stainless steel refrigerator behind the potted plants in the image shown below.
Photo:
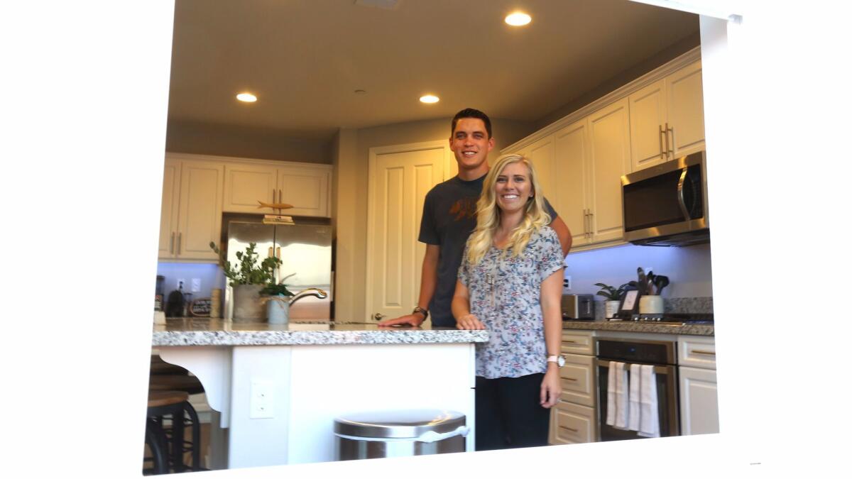
M330 320L334 298L331 272L331 225L312 224L264 224L260 219L243 219L227 222L227 260L232 267L239 264L237 251L245 252L250 243L256 243L255 251L262 261L264 257L276 256L281 260L276 282L285 278L285 285L293 294L307 288L320 288L328 297L302 297L290 309L291 320ZM225 286L224 315L233 318L233 288Z

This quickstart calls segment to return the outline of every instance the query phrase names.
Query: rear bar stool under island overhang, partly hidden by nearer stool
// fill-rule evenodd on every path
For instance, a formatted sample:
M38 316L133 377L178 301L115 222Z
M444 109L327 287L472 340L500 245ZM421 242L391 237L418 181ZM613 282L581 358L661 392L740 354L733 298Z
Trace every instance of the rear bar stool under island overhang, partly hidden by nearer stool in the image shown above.
M149 378L148 390L157 391L181 391L188 395L199 394L204 392L204 387L201 385L199 378L195 376L183 376L174 374L153 374ZM185 417L184 413L189 416ZM178 420L180 418L180 420ZM178 416L173 416L172 424L180 423L180 430L173 427L170 431L172 443L176 445L178 454L172 455L173 467L177 471L186 469L183 463L183 453L192 454L191 470L203 470L201 467L201 423L199 415L189 401L184 401L181 413ZM184 439L183 430L185 427L191 428L192 441ZM177 446L179 445L179 446Z

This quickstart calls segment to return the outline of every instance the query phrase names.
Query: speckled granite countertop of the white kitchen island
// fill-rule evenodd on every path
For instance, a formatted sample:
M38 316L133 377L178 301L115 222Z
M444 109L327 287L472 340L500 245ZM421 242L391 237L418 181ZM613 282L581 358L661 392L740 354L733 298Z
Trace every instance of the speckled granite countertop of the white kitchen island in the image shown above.
M455 328L385 326L354 321L233 323L207 318L168 319L153 326L157 346L286 346L298 344L485 343L486 331Z

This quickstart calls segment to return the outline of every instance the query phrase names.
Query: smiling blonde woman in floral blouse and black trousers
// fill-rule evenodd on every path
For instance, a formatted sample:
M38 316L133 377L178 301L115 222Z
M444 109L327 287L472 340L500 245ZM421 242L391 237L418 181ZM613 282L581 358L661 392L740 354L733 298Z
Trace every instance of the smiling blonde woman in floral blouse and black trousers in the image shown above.
M500 157L482 186L452 298L459 329L489 332L476 345L477 451L547 445L561 394L563 261L548 223L533 164Z

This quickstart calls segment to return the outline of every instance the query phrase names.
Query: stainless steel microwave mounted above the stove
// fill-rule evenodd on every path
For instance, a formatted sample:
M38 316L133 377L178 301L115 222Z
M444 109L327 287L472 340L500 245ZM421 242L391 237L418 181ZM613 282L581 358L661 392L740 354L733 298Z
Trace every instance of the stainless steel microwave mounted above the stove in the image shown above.
M710 241L705 152L621 176L625 241L686 246Z

